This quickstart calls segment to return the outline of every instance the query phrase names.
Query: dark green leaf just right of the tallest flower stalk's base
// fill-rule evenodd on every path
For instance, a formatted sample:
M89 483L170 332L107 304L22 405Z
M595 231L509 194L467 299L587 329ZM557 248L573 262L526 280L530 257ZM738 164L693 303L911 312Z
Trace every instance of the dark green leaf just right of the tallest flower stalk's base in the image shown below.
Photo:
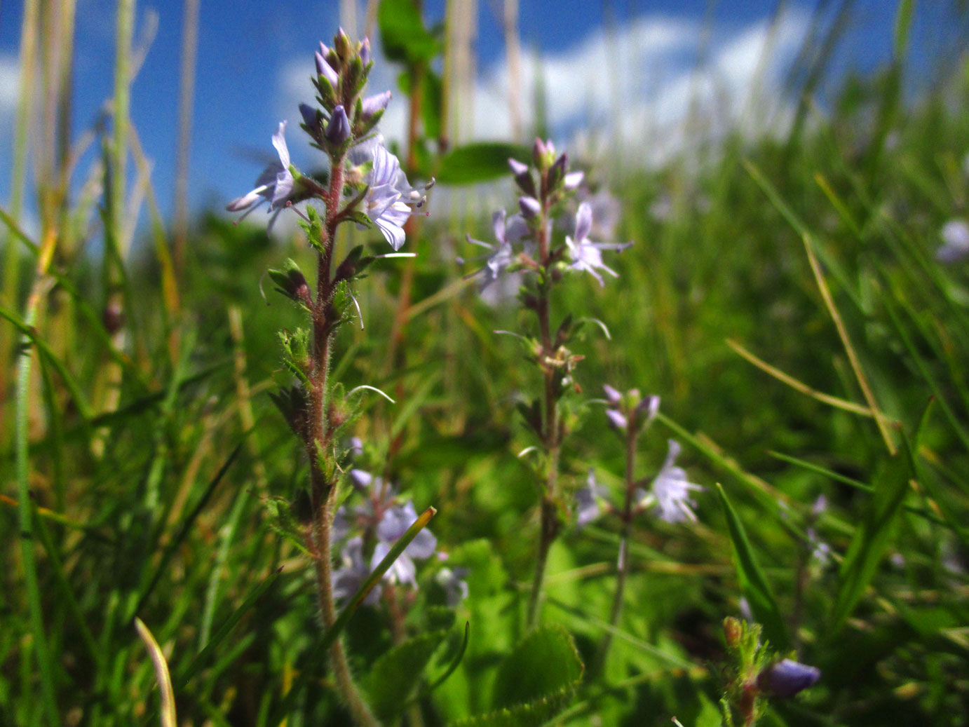
M366 690L370 707L378 717L390 721L404 708L430 657L447 636L447 631L429 631L392 647L374 662Z

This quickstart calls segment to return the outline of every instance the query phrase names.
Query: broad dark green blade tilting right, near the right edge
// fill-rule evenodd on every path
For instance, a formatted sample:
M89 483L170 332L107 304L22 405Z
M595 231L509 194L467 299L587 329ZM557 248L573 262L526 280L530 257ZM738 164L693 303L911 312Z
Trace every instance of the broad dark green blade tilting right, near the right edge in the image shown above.
M909 463L903 455L886 460L875 479L875 494L868 503L864 520L855 531L848 553L841 564L841 583L831 609L828 636L834 636L844 625L871 582L888 545L891 525L901 510L908 492Z

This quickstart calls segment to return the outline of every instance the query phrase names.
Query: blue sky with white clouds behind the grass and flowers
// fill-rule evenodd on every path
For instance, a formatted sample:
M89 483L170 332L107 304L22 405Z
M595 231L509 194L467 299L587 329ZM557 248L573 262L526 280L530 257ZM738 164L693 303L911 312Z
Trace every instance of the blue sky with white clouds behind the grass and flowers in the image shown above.
M541 75L548 89L553 132L561 138L586 126L601 129L605 125L610 134L637 139L648 128L667 133L656 138L665 141L655 143L654 151L672 151L687 89L696 92L698 87L706 88L710 113L714 117L721 114L726 121L749 102L747 91L755 68L762 63L766 64L761 69L766 79L762 91L773 103L772 114L766 118L772 119L771 123L781 122L785 100L778 98L778 89L783 71L797 52L817 0L783 3L783 21L766 61L767 18L775 12L777 1L714 3L709 66L698 76L694 73L695 58L709 4L709 0L522 0L520 33L523 47L529 50L523 80L527 86L535 78L530 59L537 53L543 59ZM505 50L494 15L500 5L500 0L479 3L479 81L474 129L469 137L508 135ZM913 34L919 67L931 67L945 44L953 43L955 29L942 20L945 5L941 0L919 4ZM850 36L837 57L840 72L848 68L870 70L890 57L894 6L890 0L859 0ZM311 98L308 77L313 67L312 51L318 41L332 36L338 23L337 8L337 2L203 0L189 181L193 208L224 205L247 191L261 170L253 152L258 150L268 158L272 152L269 137L283 118L293 120L289 141L294 161L310 163L299 139L296 104ZM440 19L443 11L442 0L425 3L425 15L431 20ZM0 10L0 171L8 170L11 160L21 13L22 3L9 0ZM155 189L163 214L169 216L173 206L181 3L140 3L136 37L148 24L149 13L157 14L157 35L134 83L131 112L145 152L154 163ZM113 33L113 3L78 0L74 110L78 134L90 126L109 98ZM386 85L378 84L389 84L396 75L388 64L378 64L373 91L383 90ZM603 77L610 65L618 69L614 80ZM528 89L524 91L524 98L529 98ZM731 109L723 106L727 97L734 99L727 105ZM391 138L402 131L403 108L404 101L398 95L384 124L385 134ZM616 121L614 111L621 113L622 123ZM644 161L661 158L653 154ZM0 204L5 205L8 196L9 178L0 172Z

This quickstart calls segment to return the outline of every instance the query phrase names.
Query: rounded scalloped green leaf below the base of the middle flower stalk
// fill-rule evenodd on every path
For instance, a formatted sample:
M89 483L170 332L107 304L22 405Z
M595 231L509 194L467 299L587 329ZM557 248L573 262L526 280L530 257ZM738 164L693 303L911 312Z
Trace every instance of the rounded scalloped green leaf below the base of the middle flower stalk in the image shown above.
M556 700L567 698L583 669L576 645L564 628L537 628L498 667L492 704L502 710L538 704L553 695Z

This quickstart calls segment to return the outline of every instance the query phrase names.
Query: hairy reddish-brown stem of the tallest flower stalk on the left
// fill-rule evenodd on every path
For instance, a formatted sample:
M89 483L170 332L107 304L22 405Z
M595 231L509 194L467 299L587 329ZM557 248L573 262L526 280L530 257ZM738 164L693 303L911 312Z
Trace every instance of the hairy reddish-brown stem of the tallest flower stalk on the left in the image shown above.
M317 595L324 627L329 630L336 622L336 608L332 591L332 553L330 553L329 527L333 522L333 496L336 488L328 482L323 468L323 458L332 434L327 413L327 376L329 368L329 339L336 323L331 307L333 285L330 269L336 226L339 223L339 205L343 192L343 160L334 159L329 174L326 196L327 216L324 227L323 252L318 258L316 301L313 305L313 351L312 369L309 374L308 421L306 427L306 454L309 457L310 502L313 508L313 541L316 554ZM329 647L329 661L340 696L346 701L359 725L375 725L370 709L363 701L347 662L343 643L335 639Z

